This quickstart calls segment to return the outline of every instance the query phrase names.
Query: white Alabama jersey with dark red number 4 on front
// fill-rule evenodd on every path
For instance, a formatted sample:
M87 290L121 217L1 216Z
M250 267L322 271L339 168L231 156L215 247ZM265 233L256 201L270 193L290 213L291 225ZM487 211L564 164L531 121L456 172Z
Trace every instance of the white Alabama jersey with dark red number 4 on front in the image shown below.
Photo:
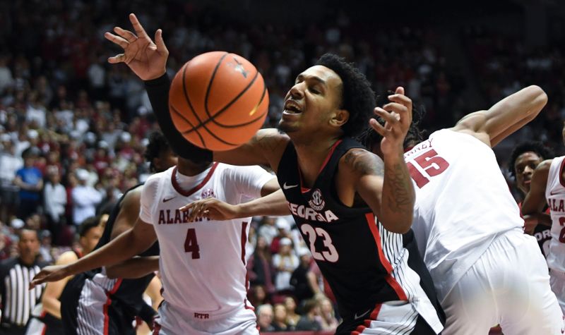
M194 181L190 190L178 185L176 167L150 176L139 217L157 233L163 298L169 307L208 319L246 304L245 247L251 218L189 221L189 213L179 208L205 197L237 205L261 197L261 188L274 177L258 166L214 163L198 176L183 178Z

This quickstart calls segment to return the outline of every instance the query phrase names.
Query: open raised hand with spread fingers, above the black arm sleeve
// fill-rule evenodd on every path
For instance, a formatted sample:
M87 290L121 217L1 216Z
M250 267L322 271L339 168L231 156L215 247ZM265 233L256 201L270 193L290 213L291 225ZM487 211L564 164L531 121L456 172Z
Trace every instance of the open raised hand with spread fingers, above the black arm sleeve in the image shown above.
M133 25L135 34L129 30L119 27L114 28L114 32L105 32L104 37L118 44L124 49L123 54L118 54L108 58L108 62L126 63L133 73L136 73L142 80L159 78L165 74L169 50L165 47L162 37L162 30L155 32L155 42L153 42L139 23L135 14L129 14L129 20Z

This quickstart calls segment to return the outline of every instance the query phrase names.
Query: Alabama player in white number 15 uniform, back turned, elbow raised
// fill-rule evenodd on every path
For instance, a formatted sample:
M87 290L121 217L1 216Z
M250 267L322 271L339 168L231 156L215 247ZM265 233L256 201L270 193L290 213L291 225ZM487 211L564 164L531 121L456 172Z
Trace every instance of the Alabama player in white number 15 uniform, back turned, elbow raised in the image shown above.
M509 192L492 147L537 116L547 102L530 86L407 145L415 183L412 223L447 316L442 334L563 334L544 257ZM364 141L378 153L378 135Z

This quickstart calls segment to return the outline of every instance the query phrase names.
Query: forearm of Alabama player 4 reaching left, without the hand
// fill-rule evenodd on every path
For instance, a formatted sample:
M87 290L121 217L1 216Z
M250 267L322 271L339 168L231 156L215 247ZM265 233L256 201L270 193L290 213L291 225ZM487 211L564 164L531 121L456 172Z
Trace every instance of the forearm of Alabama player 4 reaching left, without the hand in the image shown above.
M67 269L69 275L97 269L99 267L109 267L147 250L150 245L139 243L131 229L114 238L110 243L102 248L90 252L80 260L69 264Z

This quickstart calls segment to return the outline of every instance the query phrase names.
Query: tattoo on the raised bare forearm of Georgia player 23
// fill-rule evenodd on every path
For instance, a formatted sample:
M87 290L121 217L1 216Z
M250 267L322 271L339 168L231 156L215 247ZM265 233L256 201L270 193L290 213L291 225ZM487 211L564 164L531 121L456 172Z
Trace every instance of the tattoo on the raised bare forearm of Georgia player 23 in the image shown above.
M393 212L405 212L412 205L412 192L410 175L403 163L397 163L387 171L386 179L391 185L391 193L387 196L389 208Z

